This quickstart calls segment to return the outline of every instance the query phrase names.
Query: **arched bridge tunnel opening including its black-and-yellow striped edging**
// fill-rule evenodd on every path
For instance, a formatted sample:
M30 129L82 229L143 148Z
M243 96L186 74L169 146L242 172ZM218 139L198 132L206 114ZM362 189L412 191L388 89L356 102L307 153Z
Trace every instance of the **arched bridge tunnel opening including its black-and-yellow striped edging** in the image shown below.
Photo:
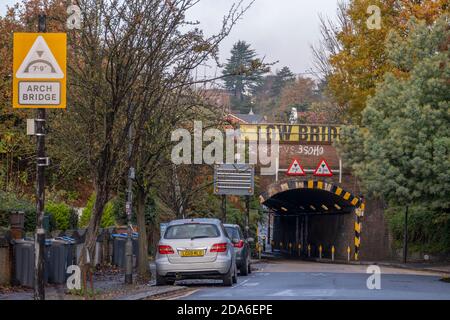
M268 186L260 201L272 212L273 250L293 257L332 258L334 252L336 259L358 258L364 204L351 192L323 180L289 180Z

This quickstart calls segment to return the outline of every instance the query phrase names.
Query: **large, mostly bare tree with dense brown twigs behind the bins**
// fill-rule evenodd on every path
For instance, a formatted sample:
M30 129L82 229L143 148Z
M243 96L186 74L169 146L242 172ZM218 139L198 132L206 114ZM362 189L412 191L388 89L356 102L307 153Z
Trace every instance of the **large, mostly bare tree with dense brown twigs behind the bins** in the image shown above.
M96 200L79 262L83 271L111 187L137 160L148 121L163 113L165 97L195 83L191 72L217 58L219 43L248 8L243 1L232 5L218 34L205 37L185 18L198 2L78 1L83 26L69 37L69 58L76 63L69 66L70 107L63 116L68 126L60 135L86 160L94 180ZM129 141L131 126L135 135Z

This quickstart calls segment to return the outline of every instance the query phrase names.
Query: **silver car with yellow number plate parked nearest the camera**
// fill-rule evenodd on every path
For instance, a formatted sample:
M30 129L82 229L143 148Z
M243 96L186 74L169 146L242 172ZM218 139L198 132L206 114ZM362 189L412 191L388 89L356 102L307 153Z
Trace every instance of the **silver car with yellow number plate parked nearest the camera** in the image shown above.
M218 219L171 221L158 243L156 285L182 279L221 279L237 282L234 247Z

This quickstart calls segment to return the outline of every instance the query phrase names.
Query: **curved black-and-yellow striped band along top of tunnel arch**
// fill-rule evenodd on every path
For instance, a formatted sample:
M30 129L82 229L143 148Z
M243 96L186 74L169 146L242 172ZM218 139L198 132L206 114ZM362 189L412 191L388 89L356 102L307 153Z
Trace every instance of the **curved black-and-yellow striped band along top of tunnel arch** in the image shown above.
M324 190L331 193L334 193L335 195L341 197L345 201L349 202L352 206L358 207L361 206L362 201L360 198L354 196L350 192L345 191L339 186L336 186L332 183L328 183L321 180L304 180L304 181L285 181L281 183L277 183L274 185L270 185L267 188L267 191L262 193L259 196L260 203L264 203L272 196L276 195L277 193L288 191L288 190L294 190L294 189L318 189L318 190Z

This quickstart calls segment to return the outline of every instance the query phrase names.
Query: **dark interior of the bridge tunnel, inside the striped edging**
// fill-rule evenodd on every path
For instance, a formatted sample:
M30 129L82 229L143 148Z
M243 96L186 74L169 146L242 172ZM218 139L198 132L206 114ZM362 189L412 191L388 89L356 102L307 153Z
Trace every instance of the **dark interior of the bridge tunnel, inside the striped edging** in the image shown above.
M273 215L272 250L299 258L345 258L354 237L354 205L333 192L292 189L263 203ZM320 250L320 247L322 248Z

